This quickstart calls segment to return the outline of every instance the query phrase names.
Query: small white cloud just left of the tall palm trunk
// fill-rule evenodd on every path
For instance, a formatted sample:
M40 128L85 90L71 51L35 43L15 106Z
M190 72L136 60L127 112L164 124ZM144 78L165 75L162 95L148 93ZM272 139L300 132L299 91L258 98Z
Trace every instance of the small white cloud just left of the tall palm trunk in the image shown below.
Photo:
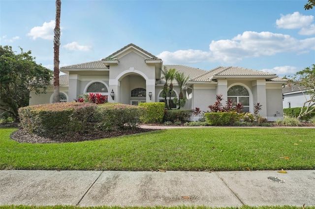
M27 35L32 36L33 40L36 40L36 38L53 40L54 39L54 28L55 28L55 21L52 20L49 23L45 22L43 24L43 26L33 27Z

